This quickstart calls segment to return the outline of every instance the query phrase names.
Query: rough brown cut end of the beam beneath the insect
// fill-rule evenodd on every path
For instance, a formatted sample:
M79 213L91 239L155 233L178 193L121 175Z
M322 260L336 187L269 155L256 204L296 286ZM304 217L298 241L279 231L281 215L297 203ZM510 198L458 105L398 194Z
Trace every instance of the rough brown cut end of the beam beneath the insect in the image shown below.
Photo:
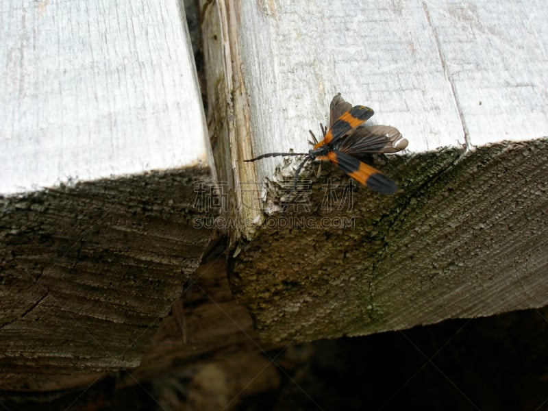
M401 190L350 209L313 184L240 245L233 290L269 341L545 306L547 157L546 139L400 157Z

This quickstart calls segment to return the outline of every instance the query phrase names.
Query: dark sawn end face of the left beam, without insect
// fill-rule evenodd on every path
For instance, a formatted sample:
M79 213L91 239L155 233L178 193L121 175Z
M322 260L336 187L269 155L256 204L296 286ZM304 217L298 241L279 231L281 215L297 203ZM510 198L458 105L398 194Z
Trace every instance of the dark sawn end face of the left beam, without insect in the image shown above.
M0 386L53 390L138 366L199 265L203 169L1 199ZM60 375L71 374L68 381Z

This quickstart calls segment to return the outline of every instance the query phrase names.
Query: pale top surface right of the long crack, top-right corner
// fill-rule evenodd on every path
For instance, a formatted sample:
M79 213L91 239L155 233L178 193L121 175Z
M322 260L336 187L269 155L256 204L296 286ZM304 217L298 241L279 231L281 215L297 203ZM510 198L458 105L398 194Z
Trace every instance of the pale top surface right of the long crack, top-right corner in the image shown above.
M471 145L548 135L545 1L425 1Z

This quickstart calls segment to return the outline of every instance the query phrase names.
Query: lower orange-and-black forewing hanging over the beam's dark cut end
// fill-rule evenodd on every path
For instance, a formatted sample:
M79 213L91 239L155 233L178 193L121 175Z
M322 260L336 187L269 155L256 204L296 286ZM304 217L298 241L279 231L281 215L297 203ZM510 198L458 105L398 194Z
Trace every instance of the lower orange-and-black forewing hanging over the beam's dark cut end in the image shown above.
M381 194L393 194L398 188L392 179L386 177L383 173L372 166L353 158L347 153L341 151L329 151L327 158L337 164L340 169L347 173L353 179L364 186Z

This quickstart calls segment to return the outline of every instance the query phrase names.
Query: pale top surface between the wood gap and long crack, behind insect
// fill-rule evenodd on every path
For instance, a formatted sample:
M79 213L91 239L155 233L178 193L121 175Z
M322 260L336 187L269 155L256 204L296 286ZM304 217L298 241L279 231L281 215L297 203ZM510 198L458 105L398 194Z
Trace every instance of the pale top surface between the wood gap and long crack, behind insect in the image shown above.
M398 127L410 151L464 144L421 2L319 1L314 13L310 3L272 4L242 4L242 55L260 55L243 59L255 153L308 149L308 129L327 122L336 92L373 108L371 123Z

